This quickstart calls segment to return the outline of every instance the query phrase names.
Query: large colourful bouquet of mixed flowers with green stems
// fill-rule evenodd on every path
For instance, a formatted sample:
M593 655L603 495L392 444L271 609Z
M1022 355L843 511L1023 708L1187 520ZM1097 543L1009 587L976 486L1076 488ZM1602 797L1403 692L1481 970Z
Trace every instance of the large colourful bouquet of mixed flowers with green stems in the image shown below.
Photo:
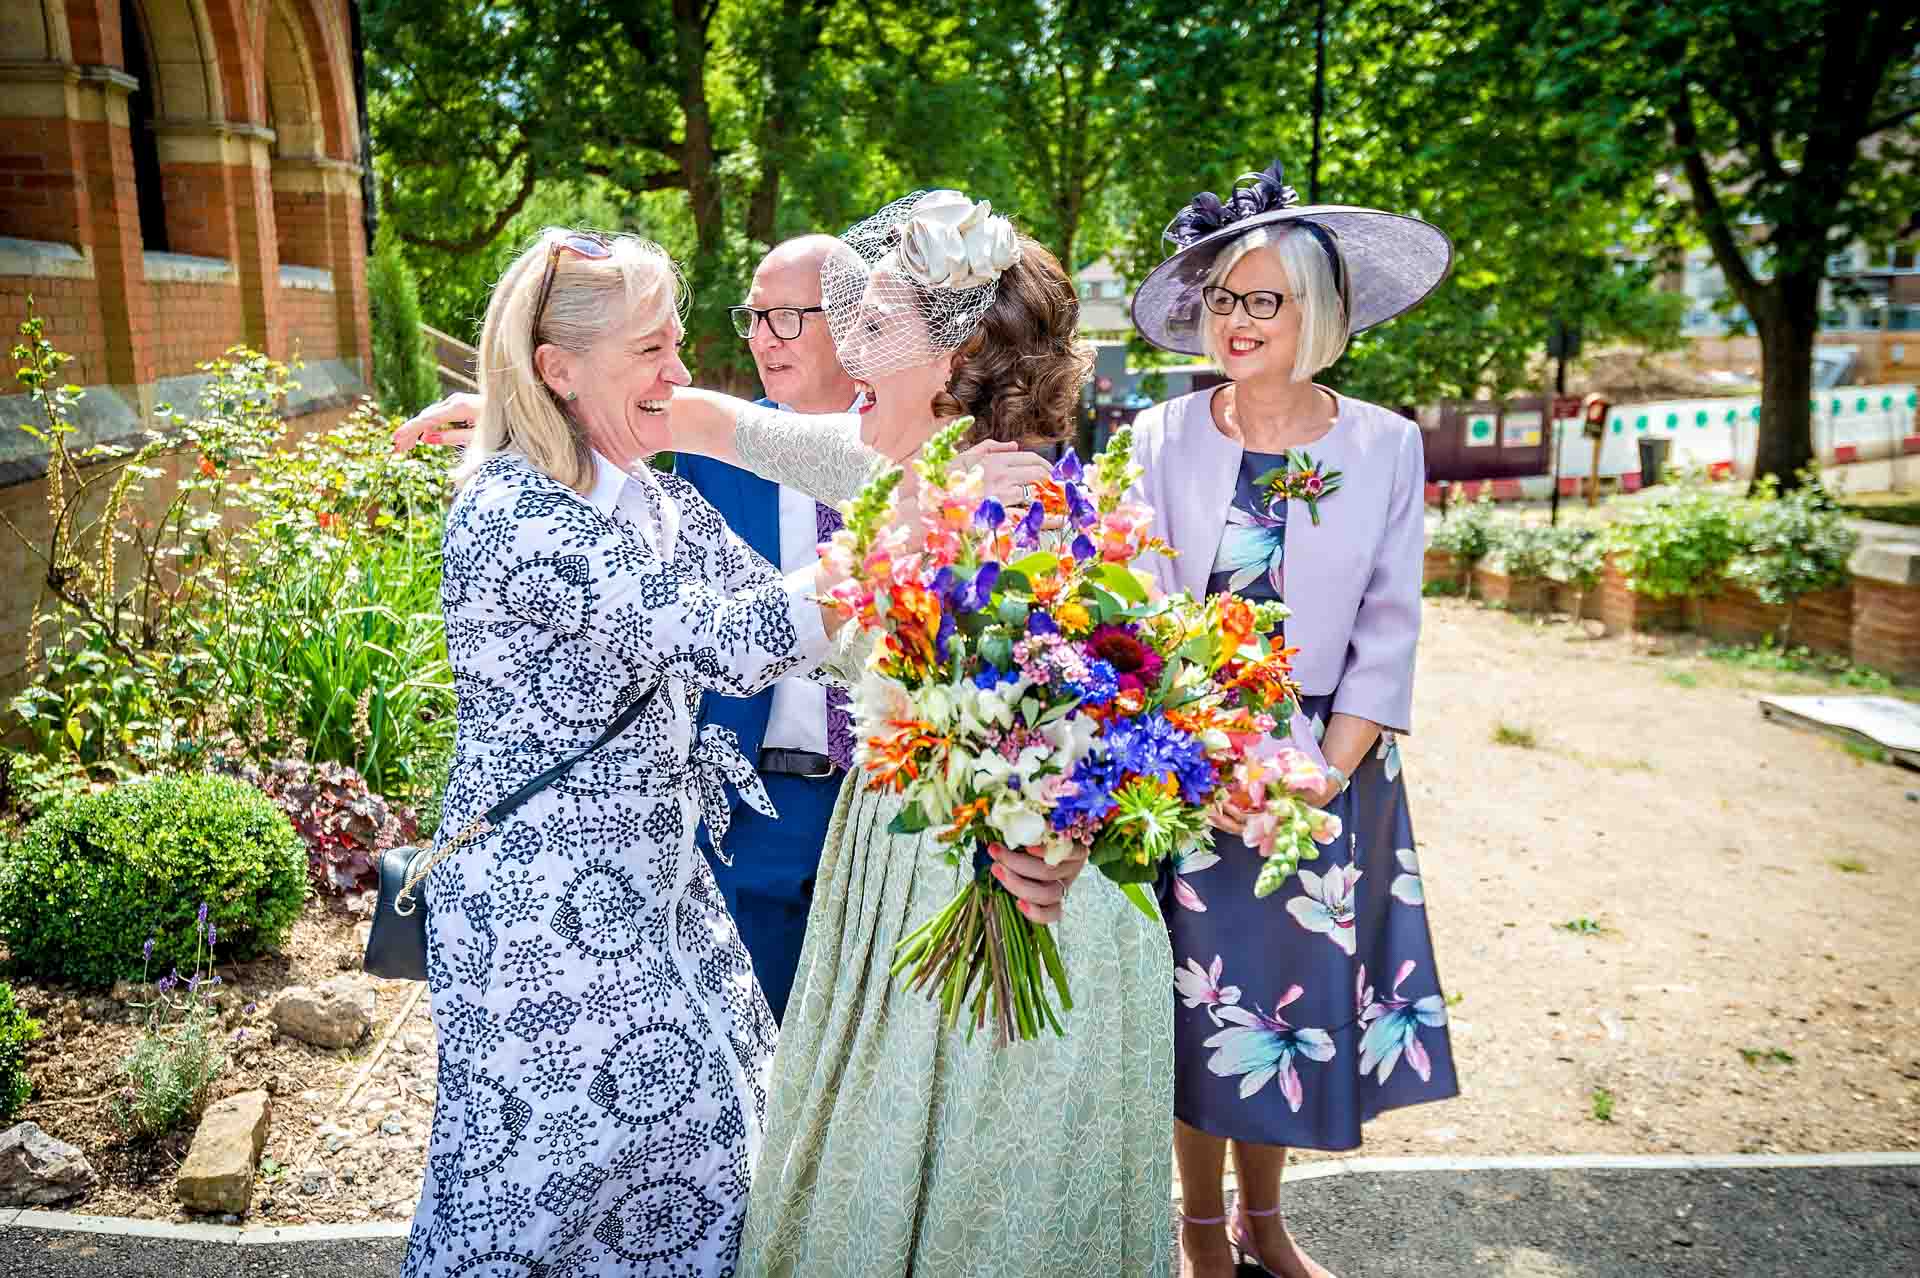
M1073 1007L1052 933L991 873L993 848L1089 864L1148 915L1162 864L1212 839L1210 808L1246 821L1265 858L1256 896L1281 887L1338 819L1306 804L1323 773L1275 739L1294 714L1281 604L1235 595L1152 599L1133 568L1152 510L1121 430L1091 466L1069 451L1023 518L981 491L956 449L972 418L916 462L920 528L893 524L899 468L876 474L824 547L845 574L829 597L877 631L854 697L854 760L904 800L889 827L937 831L972 879L900 942L895 975L941 1002L947 1025L995 1023L996 1042L1064 1032ZM970 1029L972 1032L972 1029Z

